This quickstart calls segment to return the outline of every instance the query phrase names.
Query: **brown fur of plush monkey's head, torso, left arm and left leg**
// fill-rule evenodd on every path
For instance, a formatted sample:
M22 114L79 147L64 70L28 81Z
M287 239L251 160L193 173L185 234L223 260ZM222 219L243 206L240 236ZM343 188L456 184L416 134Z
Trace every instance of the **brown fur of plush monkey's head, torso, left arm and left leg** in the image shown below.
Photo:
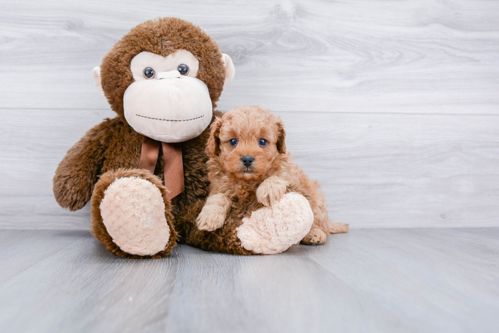
M127 258L150 256L125 253L113 243L102 224L99 211L98 203L104 190L113 179L126 174L148 179L158 186L163 195L165 193L161 185L164 180L162 152L158 156L154 176L138 169L143 137L128 125L124 117L123 94L133 82L130 61L143 51L167 56L177 49L188 50L199 60L197 78L207 85L215 107L225 80L222 54L215 41L198 26L178 18L160 18L137 25L102 60L102 88L118 116L104 119L71 147L53 178L54 196L62 207L77 210L92 197L92 233L108 251ZM214 111L213 116L216 115L221 113ZM170 252L177 236L175 229L185 229L179 225L185 220L182 215L189 217L189 206L202 202L208 195L208 158L204 152L208 137L209 129L206 129L200 136L182 142L185 190L171 202L165 199L165 206L171 208L171 211L167 209L165 216L174 228L171 228L173 232L167 248L153 257ZM185 241L185 238L182 240Z

